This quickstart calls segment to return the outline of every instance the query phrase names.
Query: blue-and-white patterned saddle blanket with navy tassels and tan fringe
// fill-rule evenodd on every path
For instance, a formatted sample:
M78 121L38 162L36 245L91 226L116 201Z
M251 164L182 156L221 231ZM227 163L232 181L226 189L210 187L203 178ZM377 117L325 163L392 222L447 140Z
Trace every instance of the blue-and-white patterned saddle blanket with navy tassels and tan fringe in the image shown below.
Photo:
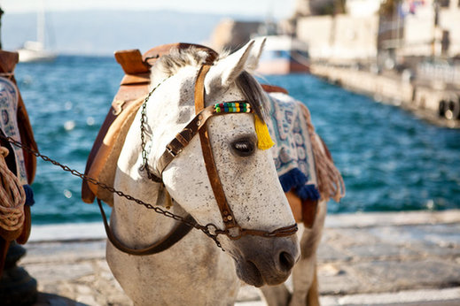
M277 173L297 222L315 224L319 200L339 202L345 186L323 140L316 134L307 106L285 92L269 94L269 133Z

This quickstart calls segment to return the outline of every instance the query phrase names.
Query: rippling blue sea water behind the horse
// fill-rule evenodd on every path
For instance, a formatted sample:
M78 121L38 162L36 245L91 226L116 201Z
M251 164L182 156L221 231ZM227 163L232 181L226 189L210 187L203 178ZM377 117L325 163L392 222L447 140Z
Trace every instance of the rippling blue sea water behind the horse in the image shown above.
M61 56L19 63L15 73L40 151L84 172L121 67L113 57ZM311 75L264 82L305 103L329 146L347 187L340 203L329 203L330 213L460 208L460 130L430 125ZM97 205L82 203L81 183L38 160L33 223L100 221Z

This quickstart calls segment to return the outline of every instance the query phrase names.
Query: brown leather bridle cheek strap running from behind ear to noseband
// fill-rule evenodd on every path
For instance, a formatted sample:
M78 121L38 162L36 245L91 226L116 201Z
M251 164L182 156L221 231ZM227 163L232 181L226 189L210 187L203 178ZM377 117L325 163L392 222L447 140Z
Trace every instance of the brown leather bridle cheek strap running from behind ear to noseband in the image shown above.
M211 65L202 65L199 69L197 80L195 82L195 112L197 115L205 108L205 77L209 68L211 68ZM229 203L227 203L221 179L219 178L219 173L217 172L217 167L215 166L213 149L211 148L209 134L207 133L207 124L199 129L199 141L201 142L201 150L203 151L203 157L205 159L207 176L211 183L211 187L213 188L215 201L219 206L219 210L221 210L225 228L229 229L238 227L237 220L233 216Z

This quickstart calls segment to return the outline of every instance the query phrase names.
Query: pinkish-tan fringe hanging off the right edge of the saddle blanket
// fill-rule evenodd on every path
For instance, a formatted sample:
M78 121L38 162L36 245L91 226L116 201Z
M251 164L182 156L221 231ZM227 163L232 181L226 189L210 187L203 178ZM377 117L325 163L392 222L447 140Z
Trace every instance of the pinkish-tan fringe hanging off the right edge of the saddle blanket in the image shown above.
M307 121L308 134L310 135L313 155L315 156L319 193L325 201L333 198L334 201L339 202L345 196L345 184L342 175L332 161L332 157L321 138L316 134L307 106L303 104L300 104L300 106Z

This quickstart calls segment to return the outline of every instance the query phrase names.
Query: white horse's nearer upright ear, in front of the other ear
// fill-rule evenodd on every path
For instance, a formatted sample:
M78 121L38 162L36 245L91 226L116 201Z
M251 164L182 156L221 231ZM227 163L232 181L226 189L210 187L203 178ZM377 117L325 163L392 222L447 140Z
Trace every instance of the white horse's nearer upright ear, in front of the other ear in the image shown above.
M238 75L246 69L248 58L252 53L253 44L254 41L247 42L240 50L219 60L209 70L209 73L207 73L207 86L209 86L209 88L227 87L236 80Z

